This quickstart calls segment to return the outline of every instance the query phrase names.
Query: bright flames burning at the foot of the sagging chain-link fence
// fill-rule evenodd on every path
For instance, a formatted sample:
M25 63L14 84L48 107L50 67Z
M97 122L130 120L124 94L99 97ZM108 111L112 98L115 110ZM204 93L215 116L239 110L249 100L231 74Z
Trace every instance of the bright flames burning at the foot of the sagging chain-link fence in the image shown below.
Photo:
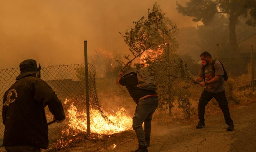
M67 104L69 100L66 100L64 104ZM87 132L87 114L85 110L78 110L72 102L67 109L67 119L69 123L62 130L62 135L75 136L82 132ZM90 129L91 133L97 134L114 134L125 130L132 129L132 118L126 116L125 109L122 107L114 115L104 112L104 114L113 123L109 123L104 119L98 110L90 109Z

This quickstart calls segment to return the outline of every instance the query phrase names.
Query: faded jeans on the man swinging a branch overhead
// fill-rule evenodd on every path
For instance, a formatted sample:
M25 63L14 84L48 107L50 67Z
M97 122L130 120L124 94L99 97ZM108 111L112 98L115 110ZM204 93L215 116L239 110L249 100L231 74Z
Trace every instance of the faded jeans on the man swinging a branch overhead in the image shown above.
M140 146L146 146L145 137L150 137L152 116L157 107L158 98L143 99L136 106L133 116L133 129L135 130ZM144 130L142 128L143 122Z

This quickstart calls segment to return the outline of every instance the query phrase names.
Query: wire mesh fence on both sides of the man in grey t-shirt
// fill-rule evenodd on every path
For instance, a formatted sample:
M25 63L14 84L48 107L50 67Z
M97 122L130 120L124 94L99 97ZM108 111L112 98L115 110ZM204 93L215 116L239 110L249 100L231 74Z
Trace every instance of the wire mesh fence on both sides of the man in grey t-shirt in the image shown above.
M252 79L255 78L256 68L254 66L254 70L252 70L250 57L219 58L218 60L224 65L225 70L228 73L229 79L225 82L227 96L231 94L230 89L232 94L233 92L239 94L242 93L242 91L252 91ZM254 59L253 64L255 65L255 63L256 60ZM185 114L189 117L191 113L197 113L198 100L204 88L200 85L193 84L193 80L198 76L201 60L174 60L173 63L170 63L171 68L167 66L168 68L161 69L161 67L166 64L168 64L166 61L159 63L160 67L157 68L156 73L158 75L156 77L164 77L160 80L161 83L159 83L159 85L163 86L162 90L167 90L167 70L169 69L171 71L169 73L169 79L171 79L169 80L171 95L167 97L170 100L169 102L166 101L166 98L160 96L160 102L162 102L162 105L171 105L168 108L165 107L165 109L169 110L170 115ZM252 71L254 73L254 78L252 78Z

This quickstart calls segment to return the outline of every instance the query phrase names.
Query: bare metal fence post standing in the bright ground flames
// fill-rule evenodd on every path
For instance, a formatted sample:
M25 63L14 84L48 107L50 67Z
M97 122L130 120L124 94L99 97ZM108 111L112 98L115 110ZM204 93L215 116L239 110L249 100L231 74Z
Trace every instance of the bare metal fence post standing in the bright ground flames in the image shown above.
M90 136L91 130L90 130L90 104L89 104L90 100L89 100L87 41L84 41L84 66L85 66L87 135Z

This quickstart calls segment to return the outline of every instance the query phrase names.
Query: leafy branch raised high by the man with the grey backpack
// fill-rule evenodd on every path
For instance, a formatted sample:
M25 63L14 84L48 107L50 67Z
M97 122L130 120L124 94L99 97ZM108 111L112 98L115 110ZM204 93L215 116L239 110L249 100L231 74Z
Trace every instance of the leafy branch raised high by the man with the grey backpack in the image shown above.
M120 33L133 54L133 59L126 54L123 56L128 60L126 64L124 64L124 61L116 59L121 67L131 63L145 51L163 49L166 43L178 47L175 40L178 33L177 26L164 15L165 13L160 9L160 6L155 3L152 10L148 9L147 19L143 16L137 22L133 22L134 28L127 29L124 34Z

